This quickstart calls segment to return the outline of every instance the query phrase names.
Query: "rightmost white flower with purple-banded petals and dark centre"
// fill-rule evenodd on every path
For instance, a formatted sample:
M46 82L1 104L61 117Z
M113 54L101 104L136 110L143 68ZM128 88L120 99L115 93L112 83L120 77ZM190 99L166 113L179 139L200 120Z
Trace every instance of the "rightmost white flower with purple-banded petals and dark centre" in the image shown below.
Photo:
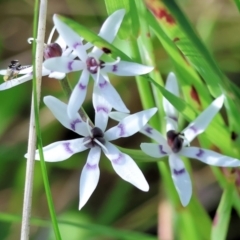
M170 73L166 82L166 89L179 96L176 77ZM167 139L157 130L149 125L145 125L141 132L157 143L142 143L141 149L149 156L162 158L169 156L169 165L172 179L179 194L181 203L186 206L192 195L192 184L188 172L180 156L194 158L212 166L238 167L240 161L235 158L221 155L211 150L200 147L189 147L189 143L200 133L204 132L213 117L218 113L224 102L224 96L216 98L210 106L205 109L192 123L190 123L182 132L178 132L178 112L167 100L163 100L163 107L166 113L167 121ZM110 117L117 120L123 117L121 113L115 113Z

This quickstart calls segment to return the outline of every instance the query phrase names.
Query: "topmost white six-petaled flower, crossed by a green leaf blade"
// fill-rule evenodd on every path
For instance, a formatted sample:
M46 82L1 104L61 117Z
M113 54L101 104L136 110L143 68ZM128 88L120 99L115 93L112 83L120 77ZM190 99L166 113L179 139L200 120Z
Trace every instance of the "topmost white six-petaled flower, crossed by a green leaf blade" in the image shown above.
M108 42L112 42L117 35L120 24L123 20L125 10L118 10L110 15L104 22L99 36ZM74 116L81 107L87 92L87 85L90 76L94 79L95 86L100 93L111 104L113 108L121 112L129 112L121 97L111 85L107 73L118 76L136 76L149 73L153 67L144 66L138 63L120 61L106 63L100 60L103 50L96 47L90 53L86 52L86 47L82 43L82 38L69 26L63 23L57 15L54 15L55 26L67 45L74 49L81 60L72 60L68 57L51 58L45 61L44 66L54 71L69 73L82 70L78 84L75 86L68 104L69 116ZM108 49L104 49L105 52Z

